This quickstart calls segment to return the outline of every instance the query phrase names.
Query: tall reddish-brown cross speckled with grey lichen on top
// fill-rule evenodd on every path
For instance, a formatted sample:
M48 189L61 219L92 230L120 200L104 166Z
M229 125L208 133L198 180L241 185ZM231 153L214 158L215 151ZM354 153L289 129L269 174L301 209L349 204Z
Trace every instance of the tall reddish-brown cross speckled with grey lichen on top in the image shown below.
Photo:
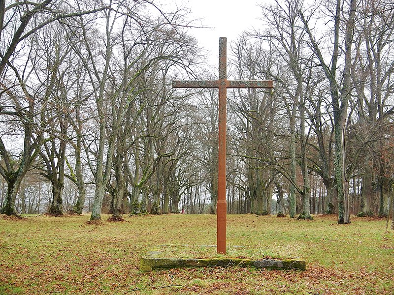
M173 81L173 88L219 89L219 168L217 212L217 253L226 253L226 121L228 88L273 88L272 80L227 80L227 38L219 38L219 79L214 81Z

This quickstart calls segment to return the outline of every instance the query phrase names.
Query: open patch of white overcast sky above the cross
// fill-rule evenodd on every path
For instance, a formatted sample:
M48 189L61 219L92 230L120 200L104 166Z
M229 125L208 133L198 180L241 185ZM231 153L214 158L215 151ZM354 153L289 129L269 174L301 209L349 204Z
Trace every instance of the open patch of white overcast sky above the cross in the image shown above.
M200 18L204 27L193 29L198 42L210 51L207 61L218 66L219 37L227 37L227 46L246 29L256 28L261 21L261 9L257 5L263 0L172 0L179 6L189 7L192 16Z

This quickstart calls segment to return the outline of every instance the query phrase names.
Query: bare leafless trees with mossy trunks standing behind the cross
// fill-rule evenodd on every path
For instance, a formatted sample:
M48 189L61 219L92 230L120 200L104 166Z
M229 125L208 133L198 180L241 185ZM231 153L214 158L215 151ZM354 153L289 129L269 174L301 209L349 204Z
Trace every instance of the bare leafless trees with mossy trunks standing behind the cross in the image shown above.
M218 93L187 9L0 3L1 213L215 213ZM388 216L394 14L387 1L273 0L229 50L229 213Z

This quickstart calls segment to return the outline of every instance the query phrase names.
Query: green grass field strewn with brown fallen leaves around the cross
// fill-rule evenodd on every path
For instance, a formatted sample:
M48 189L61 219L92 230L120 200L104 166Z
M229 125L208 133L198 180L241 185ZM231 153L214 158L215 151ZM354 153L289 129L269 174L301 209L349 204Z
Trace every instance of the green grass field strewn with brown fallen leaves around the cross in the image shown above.
M229 256L300 258L307 270L141 273L139 258L156 245L169 245L169 256L215 257L215 248L198 245L216 244L216 216L108 217L90 225L88 215L1 215L0 294L394 294L394 231L385 231L385 220L228 215Z

